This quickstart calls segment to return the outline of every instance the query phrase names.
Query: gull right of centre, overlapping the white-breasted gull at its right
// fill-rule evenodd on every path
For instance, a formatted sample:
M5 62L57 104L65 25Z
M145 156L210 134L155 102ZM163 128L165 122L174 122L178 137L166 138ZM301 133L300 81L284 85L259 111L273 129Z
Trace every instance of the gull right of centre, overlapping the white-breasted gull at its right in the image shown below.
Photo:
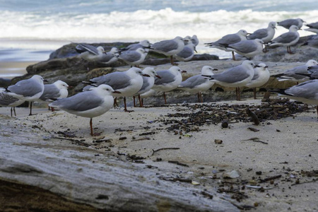
M220 86L236 88L236 99L240 101L240 87L246 86L252 80L255 67L257 66L252 61L245 60L239 66L209 77L212 82Z

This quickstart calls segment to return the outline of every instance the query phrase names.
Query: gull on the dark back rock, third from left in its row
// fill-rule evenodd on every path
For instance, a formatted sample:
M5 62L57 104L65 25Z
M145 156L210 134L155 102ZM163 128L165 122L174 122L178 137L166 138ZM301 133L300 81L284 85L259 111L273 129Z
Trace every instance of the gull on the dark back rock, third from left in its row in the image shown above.
M139 47L136 50L126 50L121 52L118 58L131 66L139 66L139 64L145 60L147 54L148 52L146 52L145 49Z

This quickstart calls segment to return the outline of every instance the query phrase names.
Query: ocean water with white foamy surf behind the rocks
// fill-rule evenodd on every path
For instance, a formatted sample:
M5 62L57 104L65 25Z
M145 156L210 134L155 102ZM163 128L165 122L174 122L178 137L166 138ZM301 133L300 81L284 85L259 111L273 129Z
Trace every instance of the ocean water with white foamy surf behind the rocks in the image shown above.
M0 62L42 61L71 41L157 42L178 35L197 35L199 53L224 58L230 53L204 42L241 29L252 33L286 18L312 23L317 14L317 0L0 0ZM287 31L277 28L276 36Z

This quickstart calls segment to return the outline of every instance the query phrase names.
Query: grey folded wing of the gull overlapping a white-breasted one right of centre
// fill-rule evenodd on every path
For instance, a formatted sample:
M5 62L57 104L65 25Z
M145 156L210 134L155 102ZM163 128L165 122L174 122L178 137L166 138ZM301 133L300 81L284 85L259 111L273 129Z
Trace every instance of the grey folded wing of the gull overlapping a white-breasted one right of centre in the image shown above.
M223 73L217 73L211 76L211 78L215 78L217 81L225 82L225 83L236 83L245 80L248 78L249 74L247 71L242 69L242 66L236 66L228 71L224 71Z

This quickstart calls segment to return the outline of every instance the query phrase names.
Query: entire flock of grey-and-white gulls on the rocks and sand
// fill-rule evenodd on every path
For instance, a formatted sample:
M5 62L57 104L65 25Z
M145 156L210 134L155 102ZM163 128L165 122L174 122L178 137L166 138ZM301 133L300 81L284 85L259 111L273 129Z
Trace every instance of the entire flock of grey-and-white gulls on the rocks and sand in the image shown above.
M199 44L196 35L184 38L177 36L172 40L162 40L153 44L148 40L143 40L122 49L113 47L110 52L105 52L103 47L77 44L78 57L105 64L111 64L121 59L126 64L131 65L131 68L127 71L115 71L92 78L89 81L83 81L82 83L87 85L83 88L83 92L71 97L67 97L67 89L70 88L67 83L56 81L52 84L44 84L45 80L42 76L34 75L29 79L18 81L15 85L8 86L8 88L0 88L0 105L11 107L12 116L13 112L16 115L16 106L29 101L30 115L32 115L32 102L49 102L52 111L57 108L71 114L90 118L90 134L93 136L96 135L93 132L93 117L98 117L110 110L113 105L117 104L116 100L119 97L124 98L125 112L131 112L126 107L127 97L134 97L134 106L136 105L135 97L138 97L139 105L142 107L143 101L141 99L151 96L157 91L163 93L165 104L167 104L165 93L175 89L197 94L198 101L203 102L201 93L211 88L214 83L236 88L237 100L240 100L240 88L245 86L253 88L254 98L256 98L256 88L264 86L269 81L270 73L266 64L254 64L253 61L248 59L252 59L255 55L264 51L263 45L285 46L287 52L291 54L290 46L298 42L298 30L302 27L302 23L304 21L300 18L278 22L277 25L288 28L289 32L275 39L273 37L276 22L270 22L268 28L255 30L252 34L247 33L246 30L240 30L235 34L225 35L215 42L206 43L208 47L232 52L232 59L235 59L234 52L237 52L237 54L247 57L247 60L221 73L213 73L213 71L218 70L211 66L204 66L201 73L189 77L185 81L182 81L182 73L186 71L175 64L174 58L179 61L192 59L194 52L196 52L195 47ZM311 32L318 33L318 23L311 23L307 26ZM318 40L318 38L314 37L312 40ZM144 61L149 51L170 57L170 63L172 64L170 69L155 70L153 67L146 67L141 70L139 65ZM318 105L317 61L311 59L306 64L286 70L275 77L279 81L302 82L291 88L276 90L275 92L295 100Z

